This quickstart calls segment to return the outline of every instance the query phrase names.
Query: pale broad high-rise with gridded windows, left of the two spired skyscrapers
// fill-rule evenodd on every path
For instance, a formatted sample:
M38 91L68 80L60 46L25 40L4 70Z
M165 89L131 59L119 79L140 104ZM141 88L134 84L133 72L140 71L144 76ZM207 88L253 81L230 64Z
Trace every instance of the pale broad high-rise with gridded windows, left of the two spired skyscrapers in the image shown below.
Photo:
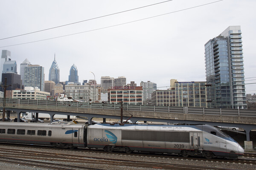
M24 68L24 87L38 87L44 91L44 67L28 65Z

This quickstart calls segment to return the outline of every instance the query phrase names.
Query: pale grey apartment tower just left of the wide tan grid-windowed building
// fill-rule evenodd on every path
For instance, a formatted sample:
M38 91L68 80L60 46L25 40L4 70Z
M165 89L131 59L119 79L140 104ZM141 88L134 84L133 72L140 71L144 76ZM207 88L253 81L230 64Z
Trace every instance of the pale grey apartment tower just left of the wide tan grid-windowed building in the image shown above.
M157 83L154 82L140 82L140 86L142 86L143 93L143 105L151 104L151 94L157 90Z

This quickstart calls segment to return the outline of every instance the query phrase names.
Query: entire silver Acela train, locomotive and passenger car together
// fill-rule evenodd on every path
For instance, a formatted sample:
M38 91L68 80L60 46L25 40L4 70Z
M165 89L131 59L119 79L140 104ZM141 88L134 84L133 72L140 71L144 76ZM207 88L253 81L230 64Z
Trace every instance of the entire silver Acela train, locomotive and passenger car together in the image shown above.
M176 153L207 159L214 156L236 159L244 154L244 149L235 140L210 125L0 122L0 142L102 148L108 152Z

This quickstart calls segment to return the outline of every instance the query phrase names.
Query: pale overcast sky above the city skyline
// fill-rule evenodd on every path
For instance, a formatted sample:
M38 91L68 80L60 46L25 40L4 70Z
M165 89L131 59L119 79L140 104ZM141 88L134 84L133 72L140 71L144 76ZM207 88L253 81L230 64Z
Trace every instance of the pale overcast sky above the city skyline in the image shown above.
M228 26L241 26L245 80L251 80L245 83L256 82L250 78L256 77L256 0L163 1L0 0L0 39L101 17L0 40L0 51L11 51L18 74L27 58L44 67L48 80L55 55L60 81L68 80L75 64L79 82L94 79L92 71L97 83L102 76L125 76L127 83L151 81L165 90L170 79L206 81L204 44ZM155 3L160 4L148 6ZM212 4L201 6L207 3ZM114 14L143 6L148 7ZM102 17L108 14L114 15ZM153 18L141 20L148 17ZM68 34L75 35L60 37ZM45 40L53 37L60 38ZM44 41L16 45L38 40ZM256 93L256 84L246 85L246 93Z

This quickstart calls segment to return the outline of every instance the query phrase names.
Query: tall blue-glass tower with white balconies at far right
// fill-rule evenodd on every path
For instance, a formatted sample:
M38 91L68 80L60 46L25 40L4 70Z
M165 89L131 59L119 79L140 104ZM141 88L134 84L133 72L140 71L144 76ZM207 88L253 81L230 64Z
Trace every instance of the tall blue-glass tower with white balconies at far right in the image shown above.
M246 109L240 26L229 26L204 48L208 107Z

